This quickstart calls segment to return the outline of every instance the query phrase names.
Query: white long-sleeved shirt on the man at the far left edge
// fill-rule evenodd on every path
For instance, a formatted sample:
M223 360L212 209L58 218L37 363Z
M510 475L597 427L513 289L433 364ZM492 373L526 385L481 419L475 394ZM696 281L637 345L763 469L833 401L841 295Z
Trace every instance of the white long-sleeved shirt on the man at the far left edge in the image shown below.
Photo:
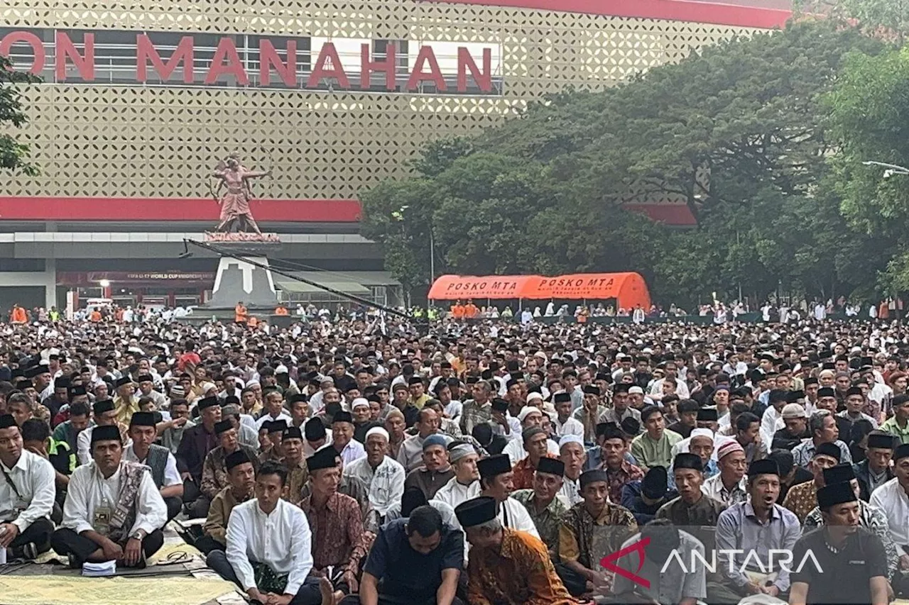
M54 508L55 472L51 463L31 451L22 451L12 469L0 462L15 490L0 473L0 522L11 522L19 532L39 519L51 516ZM15 492L19 492L19 496Z

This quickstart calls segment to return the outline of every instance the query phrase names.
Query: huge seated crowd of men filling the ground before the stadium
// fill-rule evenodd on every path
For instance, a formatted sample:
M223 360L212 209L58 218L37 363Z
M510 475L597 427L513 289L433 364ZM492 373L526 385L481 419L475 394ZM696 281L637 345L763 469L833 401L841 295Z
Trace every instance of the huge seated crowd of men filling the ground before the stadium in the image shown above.
M909 592L909 331L879 309L605 325L456 306L428 332L17 307L0 325L3 554L143 567L182 522L267 604ZM641 541L628 573L604 566ZM692 553L722 562L670 564Z

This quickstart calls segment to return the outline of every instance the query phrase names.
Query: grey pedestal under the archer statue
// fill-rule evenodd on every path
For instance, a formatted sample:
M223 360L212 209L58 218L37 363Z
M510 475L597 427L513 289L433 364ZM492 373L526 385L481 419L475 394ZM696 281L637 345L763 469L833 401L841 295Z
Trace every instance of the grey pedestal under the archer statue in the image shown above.
M222 256L218 262L212 299L202 305L205 310L229 310L243 301L250 311L274 312L278 297L275 280L268 267L266 253L280 250L281 240L275 233L206 233L205 242L242 258ZM213 236L209 239L209 236ZM264 265L265 268L247 263Z

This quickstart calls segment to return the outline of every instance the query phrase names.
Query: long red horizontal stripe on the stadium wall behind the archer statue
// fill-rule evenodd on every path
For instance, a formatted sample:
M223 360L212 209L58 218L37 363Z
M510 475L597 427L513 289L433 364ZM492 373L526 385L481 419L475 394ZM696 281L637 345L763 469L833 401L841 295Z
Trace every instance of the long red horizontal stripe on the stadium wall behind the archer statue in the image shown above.
M257 222L356 223L356 200L254 200ZM209 221L220 208L211 198L0 197L6 221Z

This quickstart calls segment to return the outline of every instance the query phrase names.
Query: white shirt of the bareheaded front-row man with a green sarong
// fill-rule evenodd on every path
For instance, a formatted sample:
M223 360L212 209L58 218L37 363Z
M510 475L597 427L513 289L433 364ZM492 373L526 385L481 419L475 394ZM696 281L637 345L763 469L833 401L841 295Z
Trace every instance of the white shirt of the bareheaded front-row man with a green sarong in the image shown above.
M287 594L296 594L313 569L309 522L304 511L283 499L267 515L255 498L237 504L227 521L226 542L227 560L244 590L257 588L250 561L286 574Z

